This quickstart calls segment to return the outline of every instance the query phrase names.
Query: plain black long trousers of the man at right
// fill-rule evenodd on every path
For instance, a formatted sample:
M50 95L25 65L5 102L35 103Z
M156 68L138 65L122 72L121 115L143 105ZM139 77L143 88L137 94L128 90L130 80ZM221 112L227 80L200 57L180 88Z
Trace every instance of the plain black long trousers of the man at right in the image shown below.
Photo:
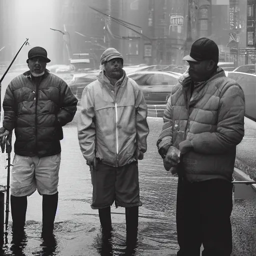
M230 256L232 183L222 179L188 182L178 179L177 256Z

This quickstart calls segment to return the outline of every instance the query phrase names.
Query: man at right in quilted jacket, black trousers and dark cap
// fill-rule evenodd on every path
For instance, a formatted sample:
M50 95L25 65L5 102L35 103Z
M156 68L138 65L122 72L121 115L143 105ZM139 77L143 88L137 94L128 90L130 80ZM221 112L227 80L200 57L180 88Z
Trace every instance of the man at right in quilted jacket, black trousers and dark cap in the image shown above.
M244 94L217 66L218 47L194 41L172 89L157 140L166 170L177 171L178 256L227 256L236 145L244 135Z

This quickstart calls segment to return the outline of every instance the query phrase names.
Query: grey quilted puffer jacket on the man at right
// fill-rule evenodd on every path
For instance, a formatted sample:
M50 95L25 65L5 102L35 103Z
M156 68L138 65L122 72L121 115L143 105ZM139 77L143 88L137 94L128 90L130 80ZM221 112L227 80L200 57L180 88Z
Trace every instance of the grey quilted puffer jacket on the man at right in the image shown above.
M236 145L244 135L243 91L221 68L190 91L190 77L182 76L167 101L158 152L164 158L169 146L188 140L191 150L179 165L187 180L231 181Z

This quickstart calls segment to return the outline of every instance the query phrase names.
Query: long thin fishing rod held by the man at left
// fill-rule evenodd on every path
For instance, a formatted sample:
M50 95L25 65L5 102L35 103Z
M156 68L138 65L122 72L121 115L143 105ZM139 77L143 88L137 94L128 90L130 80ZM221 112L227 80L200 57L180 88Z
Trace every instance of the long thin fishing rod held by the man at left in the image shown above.
M4 131L5 131L5 129L2 127L2 121L3 121L2 112L3 111L1 109L1 82L4 78L4 76L6 75L6 73L9 71L12 63L14 62L18 53L20 52L20 50L22 49L22 47L24 45L29 45L28 38L26 38L24 43L21 45L21 47L19 48L19 50L17 51L17 53L13 57L12 61L10 62L9 66L7 67L6 71L4 72L2 77L0 78L0 124L1 124L0 133L4 133ZM6 202L5 202L5 241L7 241L7 234L8 234L7 228L8 228L8 218L9 218L10 166L12 165L10 163L10 153L11 153L11 149L12 149L11 148L11 137L12 137L12 131L9 131L9 134L6 136L6 147L5 147L5 136L3 136L1 138L1 142L0 142L2 153L4 152L4 147L5 147L5 152L7 154L7 156L6 156L7 166L5 167L5 169L7 168Z

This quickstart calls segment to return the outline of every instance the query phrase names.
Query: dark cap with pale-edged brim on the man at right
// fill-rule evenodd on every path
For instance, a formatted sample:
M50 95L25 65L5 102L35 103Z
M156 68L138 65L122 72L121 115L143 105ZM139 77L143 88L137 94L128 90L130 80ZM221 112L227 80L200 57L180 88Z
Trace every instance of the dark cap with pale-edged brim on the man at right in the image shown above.
M201 37L193 42L189 55L184 56L183 60L198 62L212 59L218 63L218 54L217 44L207 37Z

